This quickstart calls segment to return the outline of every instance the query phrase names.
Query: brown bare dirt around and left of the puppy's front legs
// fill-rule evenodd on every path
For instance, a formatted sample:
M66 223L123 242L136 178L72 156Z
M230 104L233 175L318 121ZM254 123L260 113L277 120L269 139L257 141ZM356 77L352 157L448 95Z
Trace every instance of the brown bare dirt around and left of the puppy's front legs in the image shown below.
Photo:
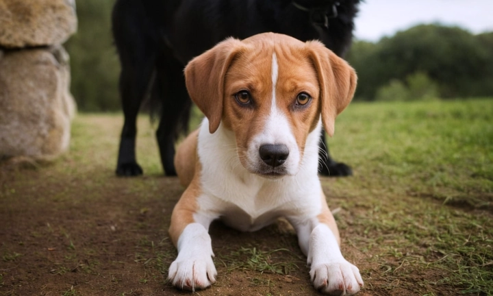
M150 190L140 198L132 186L134 180L113 177L110 171L107 180L92 181L104 183L96 191L83 180L70 176L53 180L46 173L41 169L3 175L4 185L24 185L15 186L10 194L17 198L10 205L3 205L1 212L2 249L8 250L4 251L0 269L2 293L189 294L165 281L165 271L176 256L166 232L170 212L182 192L176 178L143 177L142 186L149 186ZM284 229L278 224L260 232L240 233L215 223L211 234L218 282L198 294L314 295L296 236ZM363 271L369 289L365 288L361 295L416 295L413 290L407 291L413 284L409 282L391 291L379 288L381 268L368 262L370 254L351 245L351 232L342 231L342 250ZM288 275L243 267L231 270L231 262L251 258L248 251L238 251L242 247L264 252L285 249L275 251L266 263L279 264L281 272ZM440 276L440 272L436 273L416 276Z

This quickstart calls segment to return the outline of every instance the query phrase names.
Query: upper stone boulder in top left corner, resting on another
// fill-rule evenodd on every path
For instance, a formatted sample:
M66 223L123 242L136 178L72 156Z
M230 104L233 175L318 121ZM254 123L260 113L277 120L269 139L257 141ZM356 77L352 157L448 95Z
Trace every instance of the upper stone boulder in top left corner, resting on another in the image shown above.
M59 45L76 29L75 0L0 0L0 47Z

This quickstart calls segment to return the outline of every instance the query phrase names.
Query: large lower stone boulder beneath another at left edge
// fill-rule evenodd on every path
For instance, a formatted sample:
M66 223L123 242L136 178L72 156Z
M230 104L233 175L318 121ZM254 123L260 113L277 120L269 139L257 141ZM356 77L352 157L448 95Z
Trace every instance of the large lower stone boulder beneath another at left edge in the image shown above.
M50 160L68 149L75 101L61 46L0 51L0 160Z

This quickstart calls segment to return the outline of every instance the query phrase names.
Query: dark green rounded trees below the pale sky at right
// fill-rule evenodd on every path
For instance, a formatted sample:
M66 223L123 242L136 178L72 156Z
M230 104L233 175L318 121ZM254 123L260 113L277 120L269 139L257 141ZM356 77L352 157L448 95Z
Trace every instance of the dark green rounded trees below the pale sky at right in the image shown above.
M376 44L357 41L348 60L359 75L356 97L372 99L392 79L427 73L440 97L492 96L491 34L474 36L459 27L418 25Z

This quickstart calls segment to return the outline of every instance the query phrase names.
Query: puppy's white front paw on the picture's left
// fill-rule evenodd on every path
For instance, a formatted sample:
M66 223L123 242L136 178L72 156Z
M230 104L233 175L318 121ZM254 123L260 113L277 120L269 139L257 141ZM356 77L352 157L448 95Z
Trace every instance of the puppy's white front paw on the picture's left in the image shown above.
M200 290L216 282L216 267L212 258L177 258L171 263L168 280L182 290Z

